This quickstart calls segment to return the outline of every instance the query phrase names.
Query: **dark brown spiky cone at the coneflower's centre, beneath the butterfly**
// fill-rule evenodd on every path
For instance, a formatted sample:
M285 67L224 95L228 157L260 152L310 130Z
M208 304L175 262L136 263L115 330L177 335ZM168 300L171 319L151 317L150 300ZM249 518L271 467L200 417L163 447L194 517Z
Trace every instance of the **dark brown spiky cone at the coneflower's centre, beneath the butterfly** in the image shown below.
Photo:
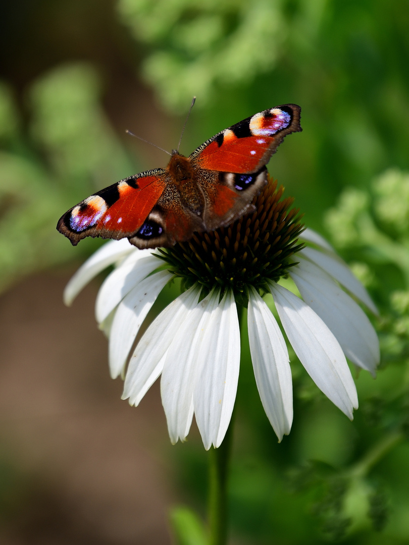
M284 187L269 178L252 204L255 211L209 233L195 233L187 243L160 249L169 270L183 278L183 287L199 282L207 288L233 289L237 302L246 305L246 286L264 291L266 280L278 281L294 263L290 257L303 247L303 231L292 197L282 199Z

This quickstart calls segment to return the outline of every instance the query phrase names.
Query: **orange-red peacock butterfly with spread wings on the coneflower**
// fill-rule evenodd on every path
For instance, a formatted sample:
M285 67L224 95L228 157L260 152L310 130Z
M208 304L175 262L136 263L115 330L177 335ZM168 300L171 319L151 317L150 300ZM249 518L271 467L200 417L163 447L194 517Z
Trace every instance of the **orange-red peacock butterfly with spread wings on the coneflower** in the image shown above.
M81 201L58 221L75 246L85 237L128 238L138 248L170 247L254 210L270 157L301 131L301 108L276 106L219 132L189 157L173 150L166 168L134 174Z

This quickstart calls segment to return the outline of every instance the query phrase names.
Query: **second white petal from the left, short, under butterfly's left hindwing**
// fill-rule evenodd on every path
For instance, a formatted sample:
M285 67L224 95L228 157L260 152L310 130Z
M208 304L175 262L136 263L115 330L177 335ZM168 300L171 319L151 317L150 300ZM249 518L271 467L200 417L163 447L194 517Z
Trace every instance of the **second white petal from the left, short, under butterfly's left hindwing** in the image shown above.
M95 301L97 322L103 322L125 295L161 264L157 257L151 255L151 250L139 250L125 259L121 267L105 278L99 289Z

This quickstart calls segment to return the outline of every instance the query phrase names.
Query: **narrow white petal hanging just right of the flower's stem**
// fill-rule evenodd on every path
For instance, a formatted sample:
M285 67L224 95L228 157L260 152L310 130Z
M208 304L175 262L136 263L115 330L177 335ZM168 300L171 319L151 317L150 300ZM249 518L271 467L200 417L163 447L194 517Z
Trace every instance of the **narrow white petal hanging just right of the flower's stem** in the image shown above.
M292 379L288 351L280 328L260 295L250 289L248 330L251 361L261 402L281 441L290 433Z

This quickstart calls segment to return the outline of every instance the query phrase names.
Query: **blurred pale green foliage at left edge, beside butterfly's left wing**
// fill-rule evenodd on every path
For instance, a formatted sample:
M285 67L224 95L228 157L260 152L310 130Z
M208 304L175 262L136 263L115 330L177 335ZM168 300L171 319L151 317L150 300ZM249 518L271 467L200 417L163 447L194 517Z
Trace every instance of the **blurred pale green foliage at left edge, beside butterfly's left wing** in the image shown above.
M33 82L28 101L27 135L11 89L0 84L0 289L74 257L56 232L58 217L132 169L101 109L91 66L53 70Z

